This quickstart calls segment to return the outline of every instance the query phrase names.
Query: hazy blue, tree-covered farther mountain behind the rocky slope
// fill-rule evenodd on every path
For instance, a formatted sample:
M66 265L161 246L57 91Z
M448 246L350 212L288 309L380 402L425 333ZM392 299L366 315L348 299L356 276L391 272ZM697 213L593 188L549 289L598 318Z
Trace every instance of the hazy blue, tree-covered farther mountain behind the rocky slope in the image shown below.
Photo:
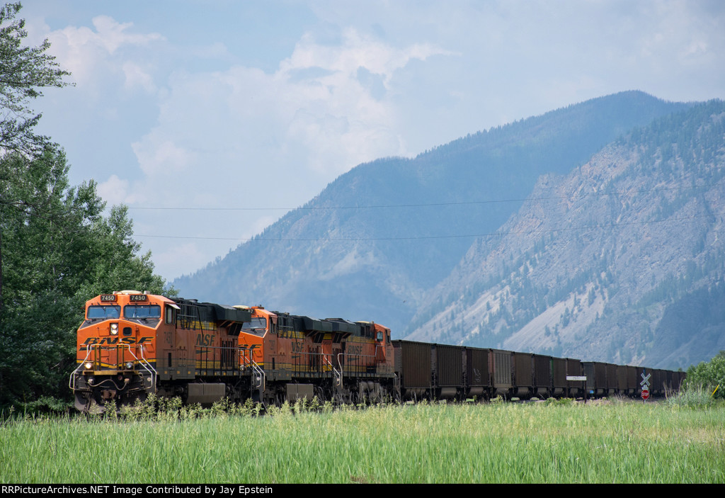
M173 285L204 301L376 320L399 337L475 235L497 231L541 175L566 175L623 133L688 106L629 91L475 133L414 159L359 165Z

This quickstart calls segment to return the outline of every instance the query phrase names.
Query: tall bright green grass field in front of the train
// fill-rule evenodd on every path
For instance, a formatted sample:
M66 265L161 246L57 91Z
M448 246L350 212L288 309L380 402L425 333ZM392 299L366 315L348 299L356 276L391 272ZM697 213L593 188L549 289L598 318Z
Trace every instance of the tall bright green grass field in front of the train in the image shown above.
M244 410L243 410L244 411ZM248 413L247 410L245 413ZM416 404L6 420L3 483L724 483L725 405Z

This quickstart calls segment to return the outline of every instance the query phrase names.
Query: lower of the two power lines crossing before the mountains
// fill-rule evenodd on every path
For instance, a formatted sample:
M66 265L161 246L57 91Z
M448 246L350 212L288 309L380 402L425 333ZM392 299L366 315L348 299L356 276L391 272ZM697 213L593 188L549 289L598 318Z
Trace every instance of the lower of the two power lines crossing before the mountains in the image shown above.
M149 238L186 238L194 240L215 240L215 241L252 241L252 242L362 242L362 241L407 241L407 240L426 240L436 238L478 238L478 237L500 237L506 235L521 235L526 233L552 233L552 232L564 232L564 231L577 231L577 230L597 230L602 228L618 228L627 225L647 225L650 223L668 223L671 221L684 221L684 220L695 220L697 218L711 217L711 216L724 216L725 212L711 213L708 215L696 215L678 218L668 218L666 220L645 220L645 221L631 221L623 223L610 223L608 225L588 225L579 227L566 227L566 228L548 228L545 230L523 230L523 231L508 231L508 232L494 232L494 233L468 233L464 235L440 235L440 236L411 236L411 237L351 237L351 238L235 238L235 237L196 237L196 236L176 236L176 235L135 235L135 237L149 237Z

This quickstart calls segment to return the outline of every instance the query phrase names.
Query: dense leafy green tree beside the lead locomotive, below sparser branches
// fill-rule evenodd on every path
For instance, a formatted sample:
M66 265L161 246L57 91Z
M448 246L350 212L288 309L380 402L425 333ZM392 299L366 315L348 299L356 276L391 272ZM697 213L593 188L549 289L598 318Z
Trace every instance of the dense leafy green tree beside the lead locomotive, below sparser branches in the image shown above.
M139 254L127 209L104 217L96 184L71 187L67 172L57 148L0 159L0 175L16 178L0 183L14 199L0 204L0 404L64 397L87 299L119 289L170 294L151 254Z

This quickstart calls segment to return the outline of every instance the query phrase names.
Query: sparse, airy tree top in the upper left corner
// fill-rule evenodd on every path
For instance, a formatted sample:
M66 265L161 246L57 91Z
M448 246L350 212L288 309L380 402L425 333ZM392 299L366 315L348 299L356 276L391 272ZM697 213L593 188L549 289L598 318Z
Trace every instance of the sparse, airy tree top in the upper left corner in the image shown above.
M43 149L49 139L33 132L41 115L28 102L42 96L39 88L63 87L70 72L59 68L55 57L47 54L50 42L40 46L22 46L25 20L15 20L20 2L0 9L0 150L32 154Z

